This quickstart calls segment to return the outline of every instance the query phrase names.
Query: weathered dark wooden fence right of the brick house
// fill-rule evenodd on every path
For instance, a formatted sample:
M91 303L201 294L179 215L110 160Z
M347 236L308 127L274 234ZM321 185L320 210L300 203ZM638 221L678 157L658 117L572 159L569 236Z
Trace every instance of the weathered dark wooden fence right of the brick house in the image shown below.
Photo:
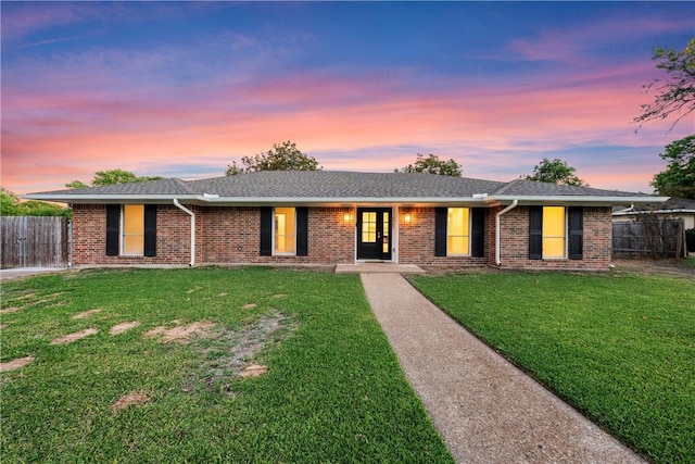
M644 215L637 221L612 223L612 252L657 256L683 256L685 225L683 220L659 220Z

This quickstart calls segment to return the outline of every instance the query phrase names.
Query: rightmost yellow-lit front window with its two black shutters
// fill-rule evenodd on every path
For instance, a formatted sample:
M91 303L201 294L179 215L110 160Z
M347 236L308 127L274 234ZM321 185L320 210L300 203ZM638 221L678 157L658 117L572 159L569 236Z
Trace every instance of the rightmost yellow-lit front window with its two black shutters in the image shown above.
M529 259L583 259L581 206L529 206Z

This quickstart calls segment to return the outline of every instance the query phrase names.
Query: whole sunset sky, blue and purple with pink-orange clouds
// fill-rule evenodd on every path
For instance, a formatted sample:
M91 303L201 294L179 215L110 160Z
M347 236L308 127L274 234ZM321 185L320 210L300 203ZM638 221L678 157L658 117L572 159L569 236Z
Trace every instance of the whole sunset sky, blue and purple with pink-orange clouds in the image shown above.
M325 170L417 153L513 180L559 158L652 192L690 115L633 117L695 36L695 2L2 1L2 186L96 171L194 179L294 141Z

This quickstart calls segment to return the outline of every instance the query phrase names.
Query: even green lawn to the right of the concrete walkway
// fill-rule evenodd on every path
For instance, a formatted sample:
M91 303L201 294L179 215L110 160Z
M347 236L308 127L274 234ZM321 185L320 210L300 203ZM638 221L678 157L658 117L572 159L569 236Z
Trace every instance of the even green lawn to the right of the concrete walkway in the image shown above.
M695 285L630 274L413 277L462 325L643 456L695 456Z

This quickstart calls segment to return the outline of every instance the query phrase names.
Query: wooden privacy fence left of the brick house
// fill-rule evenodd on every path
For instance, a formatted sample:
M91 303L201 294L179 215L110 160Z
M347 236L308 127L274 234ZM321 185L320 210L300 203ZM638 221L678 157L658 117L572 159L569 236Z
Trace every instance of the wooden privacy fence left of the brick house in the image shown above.
M0 233L2 268L67 266L67 217L3 216Z

